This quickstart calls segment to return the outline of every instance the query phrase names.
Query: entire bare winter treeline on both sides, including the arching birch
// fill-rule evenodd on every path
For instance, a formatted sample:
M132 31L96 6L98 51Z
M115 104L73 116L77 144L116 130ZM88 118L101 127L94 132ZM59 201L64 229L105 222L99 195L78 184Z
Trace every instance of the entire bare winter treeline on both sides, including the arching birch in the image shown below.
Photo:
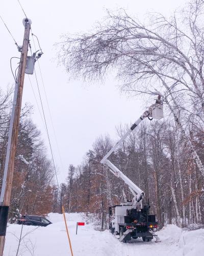
M150 105L158 95L162 98L165 118L144 121L111 155L111 161L144 190L160 227L204 224L203 10L203 1L192 0L170 18L149 13L145 23L123 9L108 11L93 30L64 34L58 45L59 62L73 77L95 81L114 71L123 91L142 96ZM10 95L11 91L0 92L0 188ZM131 194L100 160L130 125L117 127L115 141L98 137L81 164L67 166L67 181L58 188L30 112L29 106L21 112L10 221L20 213L61 212L64 205L68 212L96 214L104 227L108 207L123 202L122 190L129 199Z

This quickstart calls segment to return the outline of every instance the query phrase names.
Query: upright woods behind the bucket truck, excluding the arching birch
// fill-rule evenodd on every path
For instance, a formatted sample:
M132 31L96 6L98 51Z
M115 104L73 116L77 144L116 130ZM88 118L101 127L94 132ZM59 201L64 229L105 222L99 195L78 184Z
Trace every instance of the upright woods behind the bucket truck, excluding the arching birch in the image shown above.
M189 136L201 161L204 160L203 131L191 125ZM118 127L118 138L127 125ZM67 183L61 184L61 204L71 212L93 212L103 226L110 205L132 199L127 185L115 177L100 160L113 146L109 137L99 137L83 163L69 166ZM203 176L199 173L182 134L170 120L147 120L111 155L113 162L145 192L162 227L175 223L203 224Z

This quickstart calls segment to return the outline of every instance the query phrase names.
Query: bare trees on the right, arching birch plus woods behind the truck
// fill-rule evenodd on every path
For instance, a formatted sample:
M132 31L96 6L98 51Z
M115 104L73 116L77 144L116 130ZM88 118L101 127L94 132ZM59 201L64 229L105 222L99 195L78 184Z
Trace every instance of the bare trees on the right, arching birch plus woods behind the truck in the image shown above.
M148 101L143 108L162 98L165 118L142 123L111 155L145 191L160 227L203 223L203 20L202 0L187 2L170 17L155 12L139 20L122 8L108 10L92 29L64 34L58 44L59 61L73 78L93 82L114 73L122 91ZM125 127L117 129L119 137ZM74 179L68 178L71 210L98 211L104 220L108 206L122 201L122 188L129 193L99 164L113 143L98 139Z

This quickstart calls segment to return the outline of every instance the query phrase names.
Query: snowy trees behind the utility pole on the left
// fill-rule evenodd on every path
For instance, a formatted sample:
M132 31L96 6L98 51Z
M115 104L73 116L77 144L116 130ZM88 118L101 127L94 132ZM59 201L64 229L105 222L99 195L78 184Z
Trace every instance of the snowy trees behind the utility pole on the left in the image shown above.
M0 190L4 173L12 89L0 91ZM46 215L52 211L53 165L46 155L40 131L31 119L32 107L21 110L14 178L9 210L10 222L20 214Z

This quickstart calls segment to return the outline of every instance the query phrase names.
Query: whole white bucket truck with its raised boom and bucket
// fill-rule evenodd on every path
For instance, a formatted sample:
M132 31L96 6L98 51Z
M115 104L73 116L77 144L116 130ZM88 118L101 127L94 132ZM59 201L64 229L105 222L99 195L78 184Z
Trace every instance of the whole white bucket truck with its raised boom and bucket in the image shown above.
M158 236L155 234L157 231L158 223L156 222L155 215L149 215L148 204L142 204L144 198L144 191L142 191L134 182L127 178L108 158L116 150L116 148L129 136L134 129L145 118L149 120L163 118L163 101L160 96L156 100L156 103L151 105L140 118L131 126L122 138L111 148L106 156L100 161L100 163L106 165L110 172L116 177L122 179L128 186L133 194L132 201L126 201L120 205L114 205L109 207L109 228L110 232L119 237L120 242L130 241L131 238L137 239L141 237L144 242L149 242L153 237L156 238L156 242L161 242ZM124 191L123 191L123 197Z

